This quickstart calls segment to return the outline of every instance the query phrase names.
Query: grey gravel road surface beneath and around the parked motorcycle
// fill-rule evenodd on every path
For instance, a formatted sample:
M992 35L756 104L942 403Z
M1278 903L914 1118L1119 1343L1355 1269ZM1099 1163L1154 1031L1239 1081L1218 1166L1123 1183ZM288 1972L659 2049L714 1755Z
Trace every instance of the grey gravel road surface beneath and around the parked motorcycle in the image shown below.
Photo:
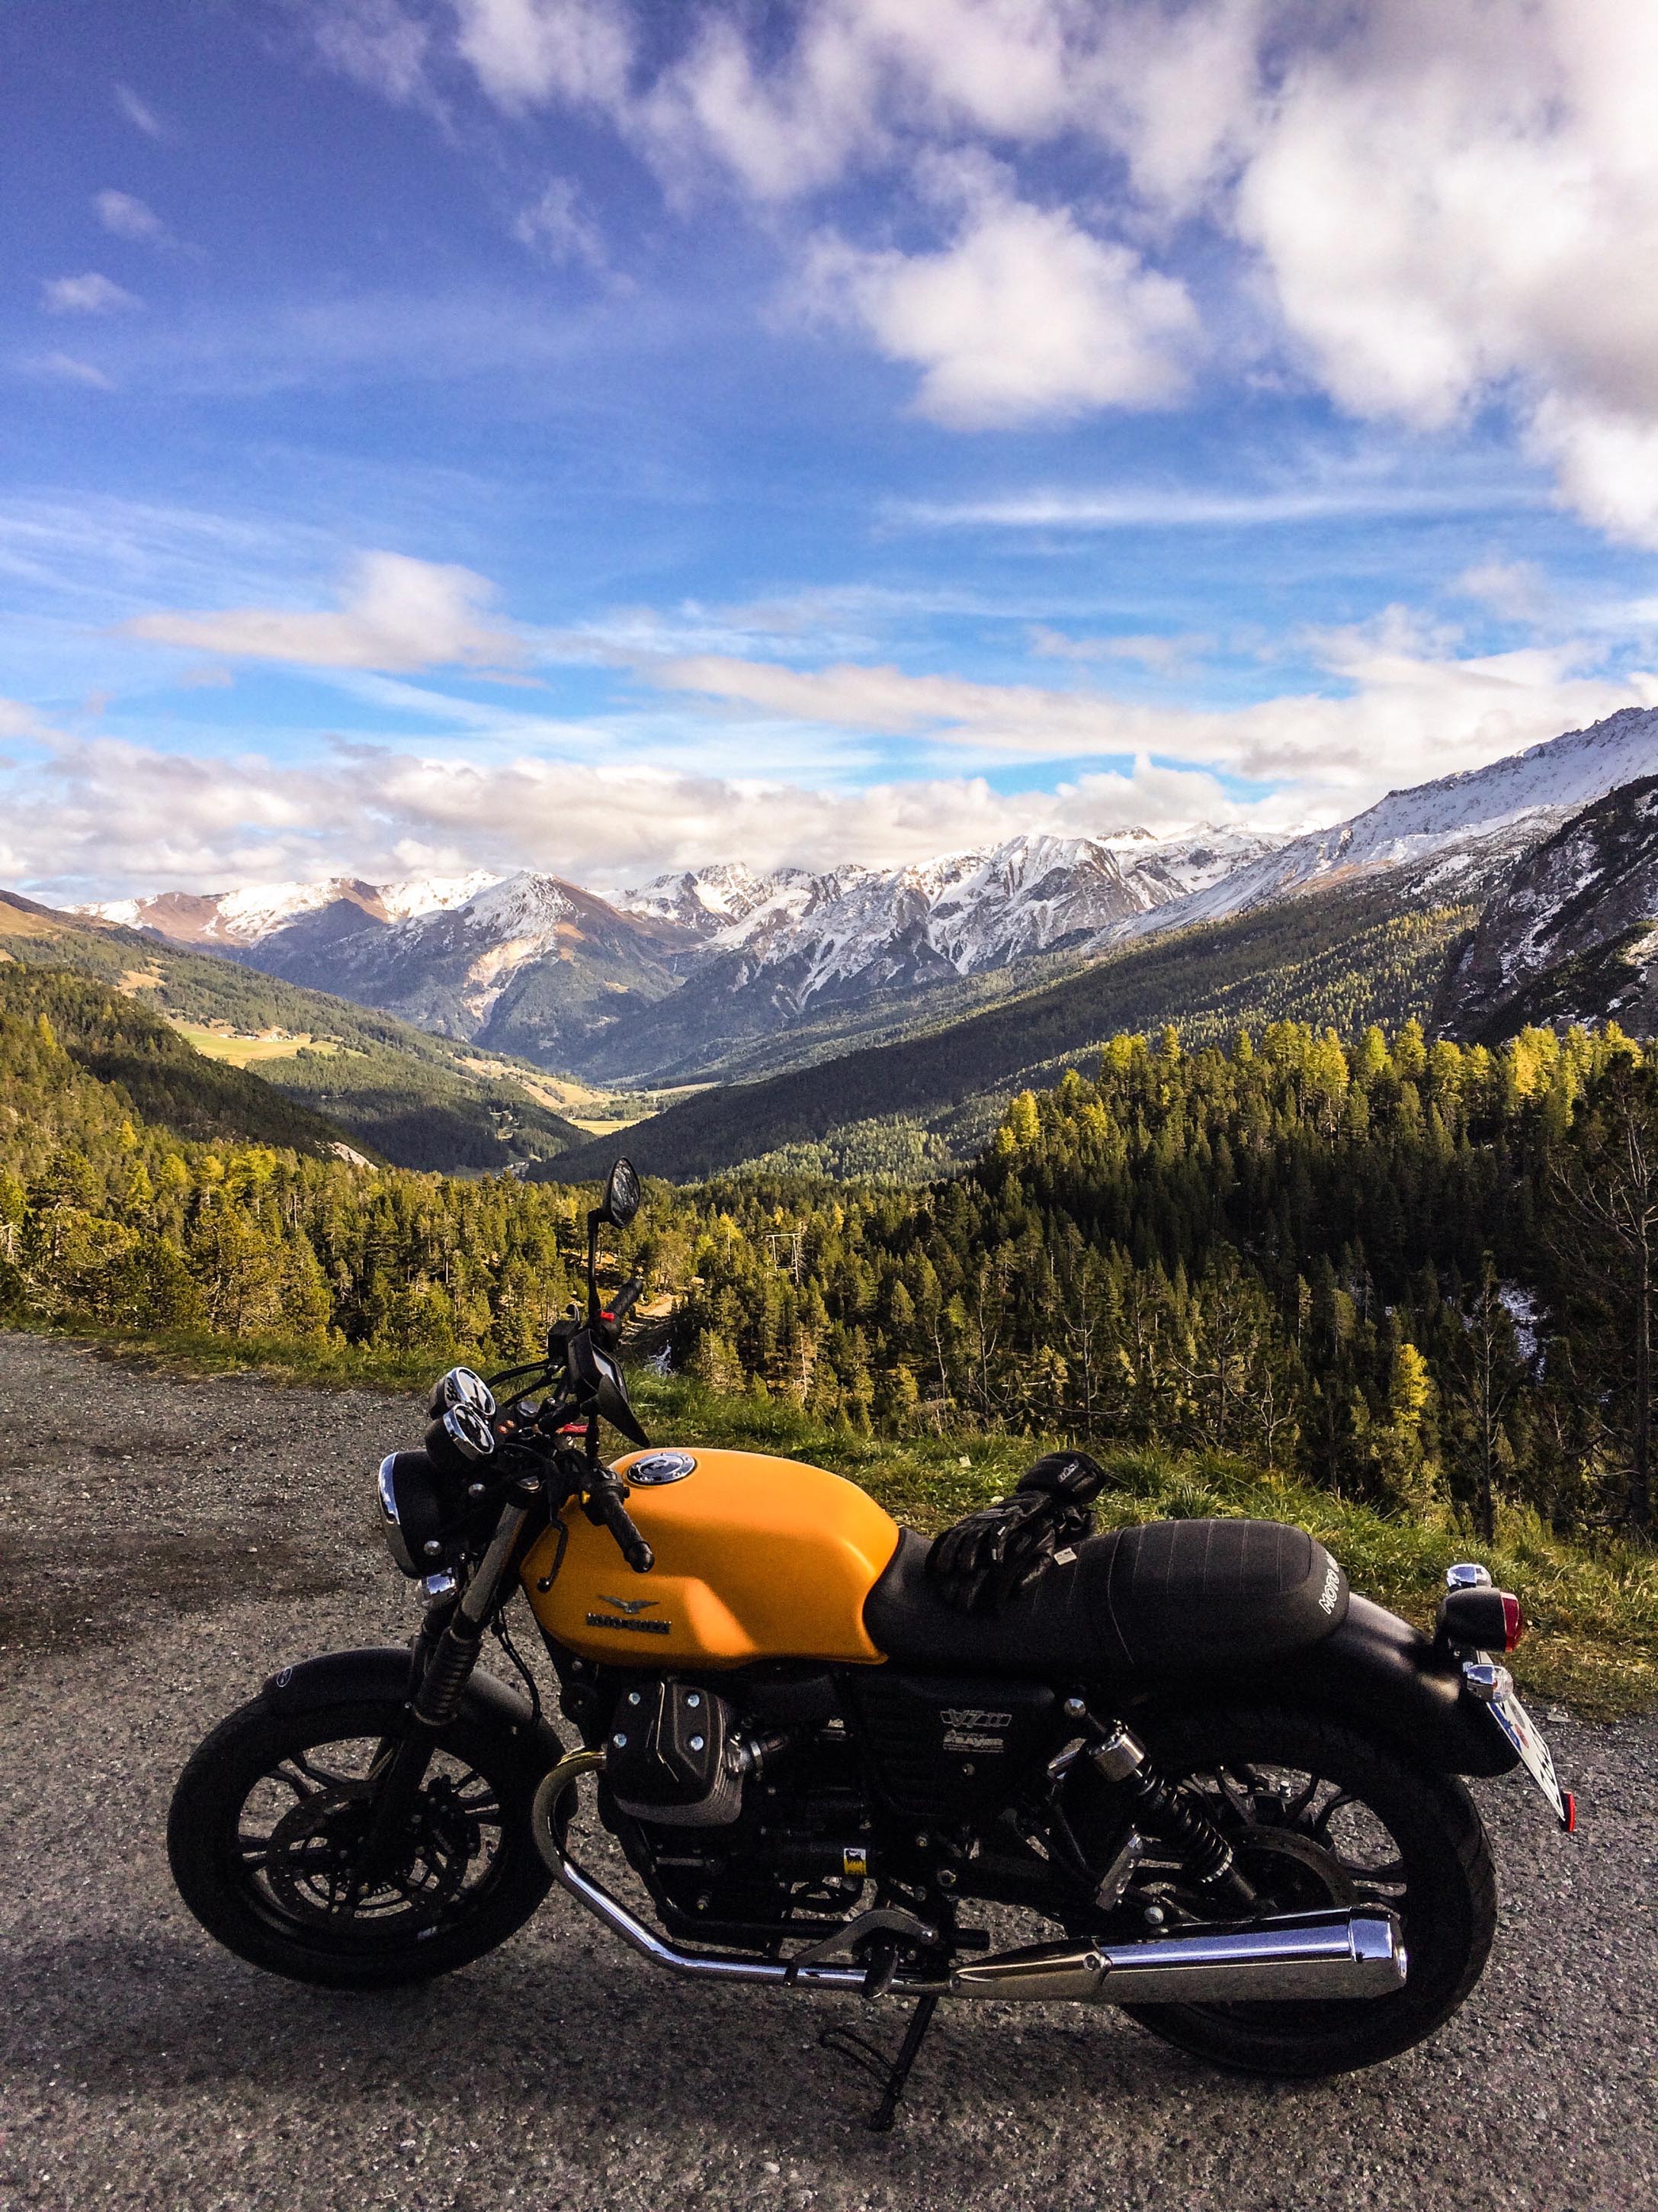
M1313 2088L1110 2013L946 2006L882 2139L816 2033L895 2042L898 2008L672 1982L562 1902L416 1995L228 1958L168 1882L172 1781L272 1666L409 1632L367 1504L416 1431L407 1400L0 1336L7 2208L1658 2208L1658 1719L1550 1728L1570 1843L1528 1785L1479 1785L1481 1989Z

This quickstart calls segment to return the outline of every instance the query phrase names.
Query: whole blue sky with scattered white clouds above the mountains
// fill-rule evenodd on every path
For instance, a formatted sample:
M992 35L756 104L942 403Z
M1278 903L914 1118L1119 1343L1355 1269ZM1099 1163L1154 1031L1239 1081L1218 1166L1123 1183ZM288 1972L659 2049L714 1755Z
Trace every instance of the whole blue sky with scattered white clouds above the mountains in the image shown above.
M1329 821L1658 701L1636 0L0 15L0 876Z

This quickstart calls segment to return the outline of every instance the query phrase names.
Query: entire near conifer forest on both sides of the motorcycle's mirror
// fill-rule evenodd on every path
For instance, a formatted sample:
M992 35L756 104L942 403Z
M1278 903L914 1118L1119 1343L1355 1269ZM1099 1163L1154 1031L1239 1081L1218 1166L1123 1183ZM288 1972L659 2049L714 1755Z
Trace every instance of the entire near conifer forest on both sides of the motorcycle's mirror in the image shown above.
M181 1051L95 982L0 971L0 1310L535 1349L590 1190L239 1128ZM964 1175L652 1183L619 1263L676 1369L847 1433L1225 1451L1426 1524L1651 1526L1658 1062L1616 1031L1121 1035Z

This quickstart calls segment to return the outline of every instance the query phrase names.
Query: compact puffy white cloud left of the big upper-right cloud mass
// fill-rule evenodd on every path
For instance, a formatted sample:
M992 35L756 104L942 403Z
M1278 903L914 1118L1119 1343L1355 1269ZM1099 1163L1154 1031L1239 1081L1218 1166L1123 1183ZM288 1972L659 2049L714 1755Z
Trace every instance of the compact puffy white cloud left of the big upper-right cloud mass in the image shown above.
M964 204L940 252L820 239L807 299L922 369L920 414L953 429L1052 420L1094 407L1165 407L1187 387L1198 319L1183 283L1068 208L1017 199L990 164L933 166Z

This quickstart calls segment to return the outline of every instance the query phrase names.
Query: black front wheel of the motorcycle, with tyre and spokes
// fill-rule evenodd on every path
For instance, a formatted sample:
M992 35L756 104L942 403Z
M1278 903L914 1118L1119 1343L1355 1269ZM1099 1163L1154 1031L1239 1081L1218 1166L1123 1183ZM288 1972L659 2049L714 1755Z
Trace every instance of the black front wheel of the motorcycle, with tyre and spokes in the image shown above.
M398 1699L274 1710L254 1699L201 1743L172 1794L179 1896L225 1949L325 1989L393 1989L464 1966L535 1911L550 1874L531 1840L535 1776L497 1732L433 1741L391 1858L363 1876Z

